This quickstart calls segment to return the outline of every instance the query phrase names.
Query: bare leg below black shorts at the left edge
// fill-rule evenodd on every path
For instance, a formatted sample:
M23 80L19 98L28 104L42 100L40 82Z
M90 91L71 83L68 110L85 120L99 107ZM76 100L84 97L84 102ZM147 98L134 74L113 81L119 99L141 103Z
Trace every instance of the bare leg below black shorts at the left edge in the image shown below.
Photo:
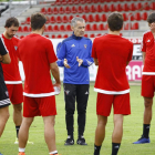
M6 123L9 118L9 106L0 108L0 137L2 135L2 132L4 130Z

